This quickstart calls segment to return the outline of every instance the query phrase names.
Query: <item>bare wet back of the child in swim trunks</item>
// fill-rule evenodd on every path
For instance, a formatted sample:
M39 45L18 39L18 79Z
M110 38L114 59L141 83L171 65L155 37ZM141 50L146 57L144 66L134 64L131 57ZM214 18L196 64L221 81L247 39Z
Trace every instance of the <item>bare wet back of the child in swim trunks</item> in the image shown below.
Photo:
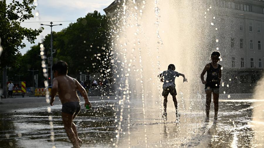
M77 95L76 79L68 75L60 75L54 78L58 82L58 94L62 104L67 102L79 102L80 99Z

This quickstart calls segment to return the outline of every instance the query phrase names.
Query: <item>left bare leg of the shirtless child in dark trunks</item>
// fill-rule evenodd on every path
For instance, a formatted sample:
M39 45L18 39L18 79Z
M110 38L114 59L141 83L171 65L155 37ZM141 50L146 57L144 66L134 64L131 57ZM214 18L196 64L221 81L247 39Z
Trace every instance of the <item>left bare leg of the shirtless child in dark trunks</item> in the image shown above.
M61 113L61 115L62 115L62 122L64 124L64 128L66 130L66 133L67 133L70 141L73 144L73 147L79 148L79 143L78 143L78 141L75 137L75 133L73 132L73 129L72 129L73 115L68 114L68 113L63 113L63 112Z

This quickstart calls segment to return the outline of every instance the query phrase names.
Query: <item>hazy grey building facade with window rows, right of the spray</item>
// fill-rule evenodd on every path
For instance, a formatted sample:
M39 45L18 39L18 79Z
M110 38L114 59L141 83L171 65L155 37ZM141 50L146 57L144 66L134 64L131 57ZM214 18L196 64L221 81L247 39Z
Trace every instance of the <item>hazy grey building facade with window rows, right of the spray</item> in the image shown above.
M221 12L216 15L221 22L219 47L225 51L223 90L227 93L253 92L263 75L264 1L217 0L215 5Z

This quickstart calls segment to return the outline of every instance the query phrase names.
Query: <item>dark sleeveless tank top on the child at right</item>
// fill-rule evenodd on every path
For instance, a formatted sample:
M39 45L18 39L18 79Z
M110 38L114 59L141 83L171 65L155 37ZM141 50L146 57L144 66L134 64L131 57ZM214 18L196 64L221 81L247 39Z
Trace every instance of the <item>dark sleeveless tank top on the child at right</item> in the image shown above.
M206 84L205 88L219 88L220 81L219 81L219 70L221 69L221 65L218 64L217 68L214 68L212 64L210 63L210 68L207 70L207 77L206 77Z

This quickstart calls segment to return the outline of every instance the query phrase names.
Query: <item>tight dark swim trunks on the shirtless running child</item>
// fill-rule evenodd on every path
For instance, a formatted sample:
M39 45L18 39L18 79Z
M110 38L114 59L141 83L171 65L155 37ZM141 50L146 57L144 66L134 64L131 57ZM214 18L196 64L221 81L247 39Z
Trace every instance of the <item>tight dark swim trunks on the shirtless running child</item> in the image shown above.
M68 102L62 104L61 112L77 115L81 111L80 102Z

